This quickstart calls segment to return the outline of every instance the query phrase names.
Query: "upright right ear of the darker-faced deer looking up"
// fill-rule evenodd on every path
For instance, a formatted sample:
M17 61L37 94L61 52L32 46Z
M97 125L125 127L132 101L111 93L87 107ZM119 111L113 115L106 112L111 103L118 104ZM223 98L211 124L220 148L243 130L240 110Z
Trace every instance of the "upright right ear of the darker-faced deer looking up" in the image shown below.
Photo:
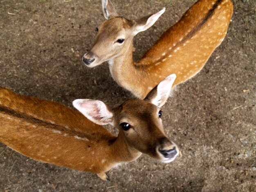
M148 93L144 100L153 103L157 107L162 107L170 95L171 87L173 86L175 78L175 74L171 74L166 77Z

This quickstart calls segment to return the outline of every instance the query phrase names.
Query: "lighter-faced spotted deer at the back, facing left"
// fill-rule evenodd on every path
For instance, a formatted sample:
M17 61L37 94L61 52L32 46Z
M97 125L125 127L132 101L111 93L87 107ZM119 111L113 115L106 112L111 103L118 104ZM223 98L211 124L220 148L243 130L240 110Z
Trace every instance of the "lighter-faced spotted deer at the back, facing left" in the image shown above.
M137 62L132 58L134 36L151 27L165 8L138 20L119 16L110 0L102 0L102 9L106 20L96 28L83 63L96 67L107 61L117 84L143 99L170 74L177 75L173 86L198 74L227 34L233 3L198 0Z

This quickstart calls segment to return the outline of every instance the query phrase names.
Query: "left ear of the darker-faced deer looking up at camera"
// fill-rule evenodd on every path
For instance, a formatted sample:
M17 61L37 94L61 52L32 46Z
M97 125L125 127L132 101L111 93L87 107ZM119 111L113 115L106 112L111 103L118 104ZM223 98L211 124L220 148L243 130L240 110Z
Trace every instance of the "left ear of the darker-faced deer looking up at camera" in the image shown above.
M73 106L93 123L113 125L112 111L100 100L76 99L73 101Z

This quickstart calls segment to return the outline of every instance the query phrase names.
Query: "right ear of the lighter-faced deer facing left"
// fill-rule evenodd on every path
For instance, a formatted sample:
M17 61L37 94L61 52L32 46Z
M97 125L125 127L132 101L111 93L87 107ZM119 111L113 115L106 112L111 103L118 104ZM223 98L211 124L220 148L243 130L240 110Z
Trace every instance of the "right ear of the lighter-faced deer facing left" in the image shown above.
M134 29L134 35L141 31L146 31L149 27L154 25L154 23L157 21L157 19L164 13L165 8L161 11L158 11L157 13L154 13L152 15L140 18L136 21L135 29Z

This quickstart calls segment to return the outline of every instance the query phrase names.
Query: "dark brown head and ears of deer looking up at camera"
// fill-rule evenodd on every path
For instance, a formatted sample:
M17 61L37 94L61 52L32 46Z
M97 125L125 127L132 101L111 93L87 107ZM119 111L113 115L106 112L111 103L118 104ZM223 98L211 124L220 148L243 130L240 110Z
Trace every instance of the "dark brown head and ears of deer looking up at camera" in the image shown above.
M179 150L164 133L160 107L166 103L175 78L175 74L165 78L144 100L130 99L113 110L99 100L77 99L73 105L90 121L117 127L128 146L169 163Z

